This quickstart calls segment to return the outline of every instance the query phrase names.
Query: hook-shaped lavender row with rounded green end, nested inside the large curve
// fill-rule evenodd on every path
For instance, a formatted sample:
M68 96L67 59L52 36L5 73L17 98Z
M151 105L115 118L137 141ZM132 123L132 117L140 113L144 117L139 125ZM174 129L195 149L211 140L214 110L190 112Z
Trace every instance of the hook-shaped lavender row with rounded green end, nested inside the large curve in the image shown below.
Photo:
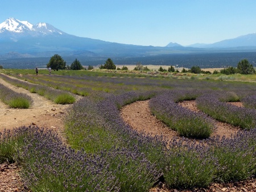
M191 100L202 94L201 91L170 91L150 101L150 110L156 117L176 130L180 136L207 138L214 128L204 114L198 114L179 106L176 102Z

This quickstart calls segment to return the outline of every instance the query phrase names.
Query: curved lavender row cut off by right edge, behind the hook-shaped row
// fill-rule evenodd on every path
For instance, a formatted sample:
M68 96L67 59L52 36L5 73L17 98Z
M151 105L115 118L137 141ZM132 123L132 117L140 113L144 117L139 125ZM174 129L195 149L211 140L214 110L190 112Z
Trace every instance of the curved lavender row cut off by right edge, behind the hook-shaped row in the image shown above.
M237 107L224 101L236 98L236 94L221 92L205 94L196 99L197 107L214 119L227 122L243 129L256 127L256 110Z

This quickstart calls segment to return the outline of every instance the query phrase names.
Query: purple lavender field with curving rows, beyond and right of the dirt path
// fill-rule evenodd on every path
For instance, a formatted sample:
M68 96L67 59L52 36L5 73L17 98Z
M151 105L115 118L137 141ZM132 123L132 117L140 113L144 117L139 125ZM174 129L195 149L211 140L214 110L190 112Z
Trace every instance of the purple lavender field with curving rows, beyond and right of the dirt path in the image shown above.
M163 183L169 189L193 189L255 177L256 83L96 72L5 73L17 78L0 76L13 85L25 80L82 96L70 102L64 118L68 144L43 127L0 133L0 162L17 162L31 191L149 191ZM167 141L124 122L120 108L146 99L152 114L178 137ZM204 114L177 104L188 100L195 100ZM238 101L245 107L228 104ZM241 131L211 137L209 116Z

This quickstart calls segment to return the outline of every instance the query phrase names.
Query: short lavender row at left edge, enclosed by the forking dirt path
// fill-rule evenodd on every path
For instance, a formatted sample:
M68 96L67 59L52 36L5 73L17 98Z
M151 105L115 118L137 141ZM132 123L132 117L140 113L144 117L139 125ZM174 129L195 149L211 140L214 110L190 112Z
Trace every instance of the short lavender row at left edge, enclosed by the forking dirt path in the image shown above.
M17 93L0 84L0 100L11 108L29 108L32 98L23 93Z

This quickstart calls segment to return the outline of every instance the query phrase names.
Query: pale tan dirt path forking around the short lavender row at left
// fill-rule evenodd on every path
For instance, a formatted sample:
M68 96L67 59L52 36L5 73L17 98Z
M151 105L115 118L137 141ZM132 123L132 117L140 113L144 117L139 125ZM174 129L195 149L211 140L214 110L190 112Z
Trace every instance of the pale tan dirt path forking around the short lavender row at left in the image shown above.
M5 129L34 124L38 127L45 127L57 131L60 136L63 135L63 121L61 118L63 118L69 105L57 105L39 94L30 93L30 91L11 85L1 78L0 84L18 93L29 95L33 101L30 108L27 109L10 108L0 102L0 132Z

